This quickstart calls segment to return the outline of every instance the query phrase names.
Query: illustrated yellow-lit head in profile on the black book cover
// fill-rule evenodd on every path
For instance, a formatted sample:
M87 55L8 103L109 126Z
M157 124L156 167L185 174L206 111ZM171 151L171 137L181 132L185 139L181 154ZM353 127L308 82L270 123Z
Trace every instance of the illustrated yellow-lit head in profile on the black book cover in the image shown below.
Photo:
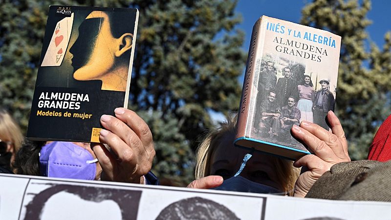
M125 91L133 35L124 18L92 11L79 26L79 36L69 49L76 80L101 80L103 90Z

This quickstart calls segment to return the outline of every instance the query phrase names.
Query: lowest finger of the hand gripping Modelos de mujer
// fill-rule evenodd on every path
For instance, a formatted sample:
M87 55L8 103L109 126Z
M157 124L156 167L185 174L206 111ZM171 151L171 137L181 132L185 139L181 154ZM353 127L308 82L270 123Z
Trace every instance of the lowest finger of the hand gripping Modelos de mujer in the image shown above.
M113 165L116 164L116 159L112 154L107 150L103 144L91 143L91 149L94 152L96 158L98 158L99 164L102 167L102 170L112 178Z

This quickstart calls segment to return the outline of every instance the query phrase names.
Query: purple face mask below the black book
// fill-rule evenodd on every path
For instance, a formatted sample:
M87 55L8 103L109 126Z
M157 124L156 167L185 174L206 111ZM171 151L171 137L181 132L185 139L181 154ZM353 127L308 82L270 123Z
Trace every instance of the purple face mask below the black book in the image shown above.
M43 146L40 152L42 176L95 179L96 159L86 149L71 143L54 141Z

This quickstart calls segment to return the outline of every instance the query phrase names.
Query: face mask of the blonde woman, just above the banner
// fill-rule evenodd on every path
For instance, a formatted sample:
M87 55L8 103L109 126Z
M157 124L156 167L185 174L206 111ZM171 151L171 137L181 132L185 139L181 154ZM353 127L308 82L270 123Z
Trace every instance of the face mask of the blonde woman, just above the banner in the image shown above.
M253 182L242 176L233 176L228 178L224 180L220 186L213 189L248 193L282 194L281 190L271 186L263 185L261 183Z

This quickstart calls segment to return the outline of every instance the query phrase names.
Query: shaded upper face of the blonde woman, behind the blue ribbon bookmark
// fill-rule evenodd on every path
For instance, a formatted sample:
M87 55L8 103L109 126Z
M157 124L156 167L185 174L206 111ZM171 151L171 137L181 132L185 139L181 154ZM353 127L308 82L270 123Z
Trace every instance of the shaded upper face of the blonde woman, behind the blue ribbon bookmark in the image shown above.
M211 156L210 175L218 175L228 179L239 170L243 157L249 153L249 150L235 147L233 144L234 136L234 134L227 133L221 138ZM279 171L273 165L272 159L272 156L254 152L240 176L283 191L282 184L276 175L276 172Z

